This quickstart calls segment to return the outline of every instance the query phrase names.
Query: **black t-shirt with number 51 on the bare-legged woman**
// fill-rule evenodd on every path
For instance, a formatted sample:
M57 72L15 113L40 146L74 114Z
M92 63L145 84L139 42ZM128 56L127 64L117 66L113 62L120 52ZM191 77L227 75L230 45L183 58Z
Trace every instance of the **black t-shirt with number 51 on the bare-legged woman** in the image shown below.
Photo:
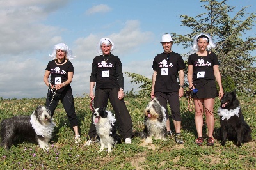
M212 80L214 77L214 65L219 65L219 61L214 52L207 54L207 56L198 56L198 54L191 54L188 58L188 65L193 65L193 81L199 79Z

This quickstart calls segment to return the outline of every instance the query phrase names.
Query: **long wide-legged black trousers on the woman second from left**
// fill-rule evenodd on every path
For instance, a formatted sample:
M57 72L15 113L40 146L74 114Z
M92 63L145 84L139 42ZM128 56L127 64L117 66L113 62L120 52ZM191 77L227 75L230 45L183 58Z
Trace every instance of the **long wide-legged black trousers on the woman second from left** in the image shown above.
M118 122L118 127L120 130L120 135L125 138L132 137L132 119L129 114L129 111L125 105L124 99L118 99L118 91L119 88L111 88L111 89L97 89L95 91L95 98L94 98L94 106L95 109L99 107L107 107L108 99L113 107L115 112L115 116ZM92 137L96 136L96 128L93 124L93 113L92 113L92 120L90 129L88 132L87 139L92 139Z

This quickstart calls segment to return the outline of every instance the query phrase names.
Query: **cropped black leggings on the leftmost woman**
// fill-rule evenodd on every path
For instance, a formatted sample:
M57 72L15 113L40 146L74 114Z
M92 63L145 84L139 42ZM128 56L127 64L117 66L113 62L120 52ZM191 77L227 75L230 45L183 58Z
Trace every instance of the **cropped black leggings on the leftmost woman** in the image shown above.
M49 104L51 102L49 95L50 94L48 93L46 97L46 103L45 103L46 107L49 107ZM65 109L65 112L67 113L68 120L70 121L70 124L72 125L72 127L78 126L78 120L77 120L75 105L74 105L74 98L73 98L71 88L65 89L61 94L56 93L49 107L51 111L51 117L53 117L54 111L60 100Z

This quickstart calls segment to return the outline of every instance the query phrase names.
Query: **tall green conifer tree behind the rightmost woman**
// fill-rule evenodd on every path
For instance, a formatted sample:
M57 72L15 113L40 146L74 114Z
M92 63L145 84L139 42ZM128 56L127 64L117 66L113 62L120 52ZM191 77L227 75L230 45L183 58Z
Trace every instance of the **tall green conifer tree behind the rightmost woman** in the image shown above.
M250 36L250 31L255 24L255 12L246 13L250 6L241 8L234 13L236 8L228 6L228 0L200 0L206 12L189 17L180 15L182 26L189 27L191 33L187 35L173 34L175 43L180 43L184 49L191 47L193 38L199 33L209 33L216 43L213 52L220 61L222 79L227 82L230 77L236 84L236 91L252 94L256 90L256 57L252 51L256 49L256 38ZM227 80L226 80L227 79ZM233 83L233 84L234 84ZM228 83L224 90L230 89Z

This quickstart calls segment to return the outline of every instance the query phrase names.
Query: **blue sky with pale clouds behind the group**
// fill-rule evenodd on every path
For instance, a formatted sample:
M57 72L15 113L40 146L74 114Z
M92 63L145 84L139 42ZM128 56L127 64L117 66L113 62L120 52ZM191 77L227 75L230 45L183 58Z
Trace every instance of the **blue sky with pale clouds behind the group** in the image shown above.
M115 43L113 54L120 57L124 72L151 78L152 60L163 52L161 35L190 33L180 26L179 14L195 17L205 12L203 4L199 0L0 0L0 97L45 97L44 72L56 43L67 44L76 56L71 85L74 97L83 96L89 90L96 44L103 37ZM232 0L228 5L237 10L251 5L246 12L252 13L256 1ZM172 50L184 54L190 49L174 44ZM136 88L128 77L124 79L125 91Z

